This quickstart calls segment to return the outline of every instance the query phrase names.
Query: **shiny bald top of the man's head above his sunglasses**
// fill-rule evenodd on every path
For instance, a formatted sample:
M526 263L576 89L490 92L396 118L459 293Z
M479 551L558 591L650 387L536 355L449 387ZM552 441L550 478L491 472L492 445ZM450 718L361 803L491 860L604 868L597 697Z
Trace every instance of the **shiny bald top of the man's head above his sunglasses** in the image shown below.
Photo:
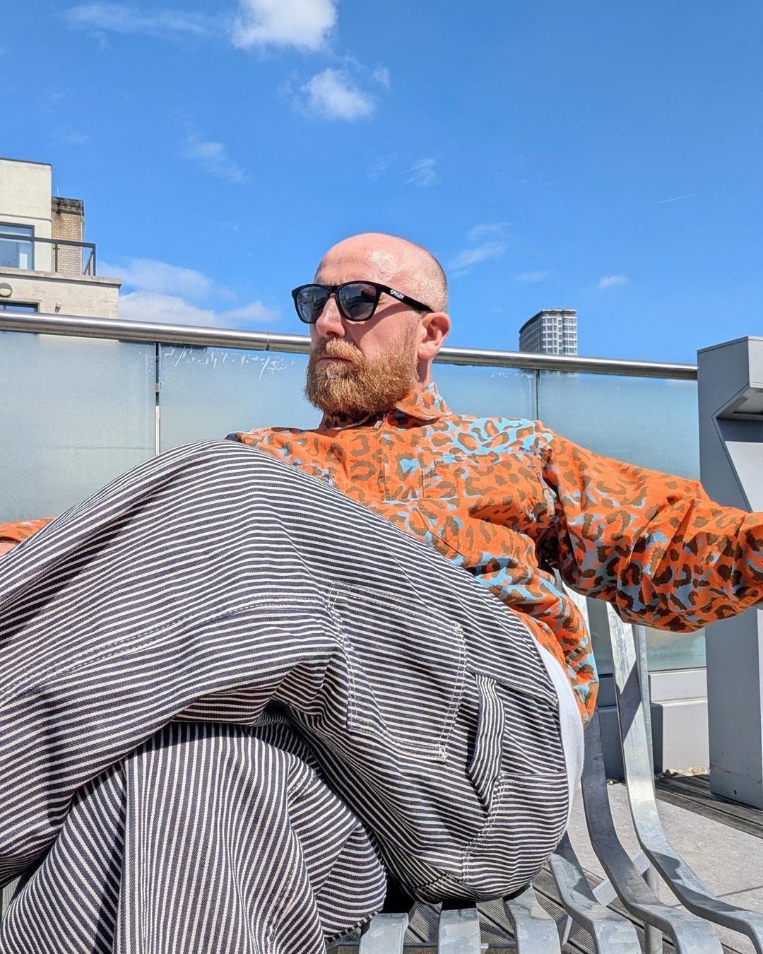
M342 239L320 259L316 280L328 280L325 274L349 269L353 279L381 281L405 295L429 305L432 311L447 311L447 280L440 262L422 245L384 235L363 232Z

